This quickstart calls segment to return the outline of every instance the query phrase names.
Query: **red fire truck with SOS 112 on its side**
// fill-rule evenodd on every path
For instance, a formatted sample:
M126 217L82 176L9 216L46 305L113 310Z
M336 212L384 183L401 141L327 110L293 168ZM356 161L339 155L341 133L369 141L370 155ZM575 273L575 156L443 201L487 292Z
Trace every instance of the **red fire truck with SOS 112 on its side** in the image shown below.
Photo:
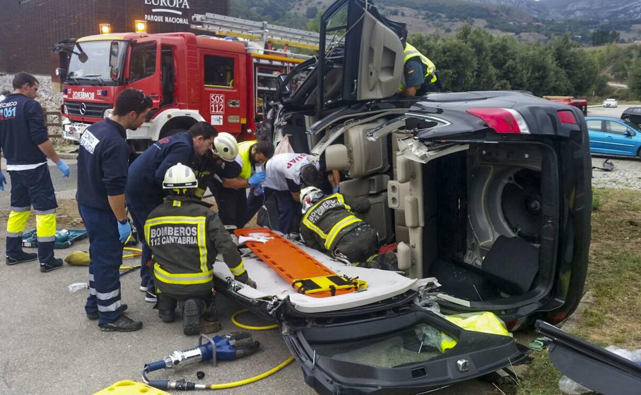
M238 140L251 138L262 120L263 104L274 98L278 76L309 57L292 54L287 46L313 49L318 45L317 33L263 22L210 13L194 15L194 21L198 24L193 29L226 38L104 33L108 28L101 26L103 34L56 45L64 137L79 141L88 125L112 113L122 90L135 88L154 103L147 122L127 131L131 147L138 152L198 121L209 122ZM136 27L144 30L144 24ZM261 42L252 41L256 38ZM283 49L276 51L272 44Z

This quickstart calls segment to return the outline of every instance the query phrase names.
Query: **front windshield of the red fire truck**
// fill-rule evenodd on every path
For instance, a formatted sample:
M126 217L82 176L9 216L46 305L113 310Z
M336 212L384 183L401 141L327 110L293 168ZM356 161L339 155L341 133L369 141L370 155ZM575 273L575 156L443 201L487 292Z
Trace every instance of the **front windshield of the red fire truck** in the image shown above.
M99 85L113 83L109 67L111 44L111 40L76 43L69 59L67 81L90 80ZM124 56L124 46L125 42L120 42L119 57Z

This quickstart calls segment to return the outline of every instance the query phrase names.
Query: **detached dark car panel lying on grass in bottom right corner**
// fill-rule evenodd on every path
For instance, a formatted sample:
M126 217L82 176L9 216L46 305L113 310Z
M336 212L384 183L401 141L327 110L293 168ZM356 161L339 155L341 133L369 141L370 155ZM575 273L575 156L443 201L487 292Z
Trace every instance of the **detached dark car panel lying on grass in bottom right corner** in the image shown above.
M570 335L545 321L535 324L549 337L550 360L564 375L603 395L636 395L641 388L641 366L615 353Z

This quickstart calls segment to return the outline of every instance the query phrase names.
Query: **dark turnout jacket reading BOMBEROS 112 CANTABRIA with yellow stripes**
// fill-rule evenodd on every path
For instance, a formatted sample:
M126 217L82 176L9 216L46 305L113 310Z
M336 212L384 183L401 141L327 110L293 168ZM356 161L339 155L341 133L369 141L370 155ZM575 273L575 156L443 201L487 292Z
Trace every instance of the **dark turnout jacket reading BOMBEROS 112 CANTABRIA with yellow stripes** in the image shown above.
M147 217L145 239L153 252L156 287L174 295L209 292L221 252L234 277L248 275L218 214L196 199L171 195Z

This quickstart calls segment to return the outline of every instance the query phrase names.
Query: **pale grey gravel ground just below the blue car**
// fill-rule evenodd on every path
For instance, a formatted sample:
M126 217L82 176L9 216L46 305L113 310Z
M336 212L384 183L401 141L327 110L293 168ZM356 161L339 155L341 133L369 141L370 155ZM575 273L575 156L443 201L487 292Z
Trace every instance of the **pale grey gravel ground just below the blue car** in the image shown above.
M592 170L594 188L619 188L641 190L641 160L638 158L620 158L592 156L592 166L601 167L605 159L614 163L612 172Z

